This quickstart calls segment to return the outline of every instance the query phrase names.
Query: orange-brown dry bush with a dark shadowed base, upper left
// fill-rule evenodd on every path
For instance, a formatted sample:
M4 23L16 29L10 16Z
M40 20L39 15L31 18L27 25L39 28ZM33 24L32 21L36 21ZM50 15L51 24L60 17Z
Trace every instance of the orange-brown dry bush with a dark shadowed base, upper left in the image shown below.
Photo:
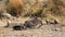
M8 3L9 13L11 13L13 16L22 15L24 8L24 0L10 0Z

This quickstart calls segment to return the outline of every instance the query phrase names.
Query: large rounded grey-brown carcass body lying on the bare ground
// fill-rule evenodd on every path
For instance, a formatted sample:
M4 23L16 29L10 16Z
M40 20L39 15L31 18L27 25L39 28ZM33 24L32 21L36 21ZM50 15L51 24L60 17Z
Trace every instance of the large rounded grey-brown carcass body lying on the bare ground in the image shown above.
M40 17L31 17L30 20L26 21L24 26L26 28L39 28L42 25L42 21Z

